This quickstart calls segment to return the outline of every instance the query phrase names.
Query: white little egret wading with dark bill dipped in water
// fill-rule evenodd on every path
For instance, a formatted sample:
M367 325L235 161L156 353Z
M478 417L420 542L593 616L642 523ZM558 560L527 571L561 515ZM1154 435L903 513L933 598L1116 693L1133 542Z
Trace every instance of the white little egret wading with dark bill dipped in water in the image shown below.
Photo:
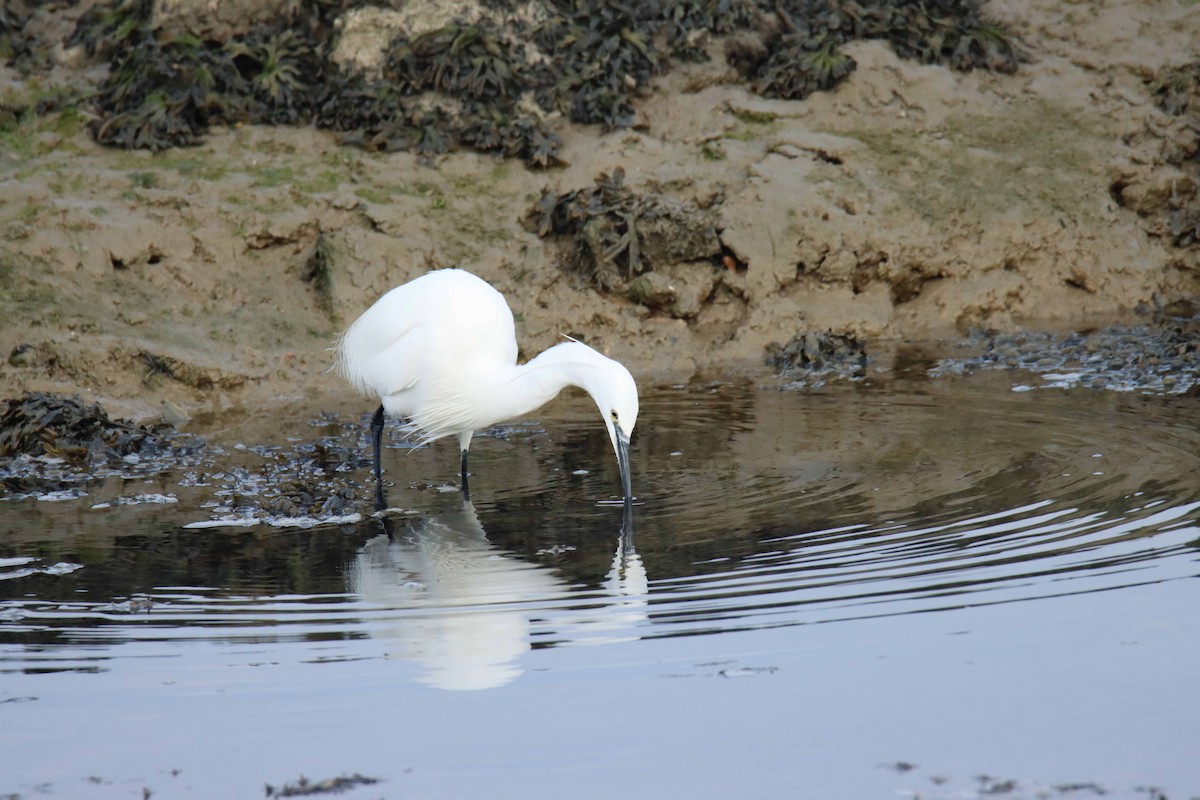
M376 506L382 509L379 449L384 416L403 420L420 444L456 437L462 491L470 437L541 408L565 386L592 396L617 452L625 510L632 503L629 437L637 385L623 365L588 345L556 344L517 365L517 337L504 295L463 270L437 270L396 287L342 335L337 366L360 392L378 395L371 420Z

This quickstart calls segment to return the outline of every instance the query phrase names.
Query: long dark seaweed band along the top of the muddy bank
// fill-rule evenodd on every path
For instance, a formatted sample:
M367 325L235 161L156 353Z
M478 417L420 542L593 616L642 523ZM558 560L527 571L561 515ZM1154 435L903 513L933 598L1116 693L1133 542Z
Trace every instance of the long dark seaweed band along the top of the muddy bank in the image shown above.
M772 97L835 85L854 68L839 49L854 38L961 70L1007 72L1024 60L980 0L546 0L532 17L491 0L479 19L396 38L383 76L366 77L329 59L332 20L359 5L302 0L293 18L227 42L162 41L151 0L94 6L68 43L110 60L97 140L156 150L194 144L212 125L312 122L370 149L432 157L470 148L548 167L560 143L547 114L630 127L653 77L709 58L713 37Z

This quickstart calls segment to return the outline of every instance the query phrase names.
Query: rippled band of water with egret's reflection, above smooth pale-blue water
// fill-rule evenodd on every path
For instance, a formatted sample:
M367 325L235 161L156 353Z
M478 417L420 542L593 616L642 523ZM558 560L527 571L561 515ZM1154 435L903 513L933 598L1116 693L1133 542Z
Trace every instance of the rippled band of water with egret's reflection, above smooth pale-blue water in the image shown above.
M606 503L616 464L594 416L568 399L480 437L474 504L444 491L450 449L389 451L407 511L385 519L196 530L187 497L13 503L0 673L204 643L227 662L392 658L421 682L482 688L541 648L1037 613L1198 572L1200 409L1186 398L1013 393L995 375L662 389L635 435L631 534Z

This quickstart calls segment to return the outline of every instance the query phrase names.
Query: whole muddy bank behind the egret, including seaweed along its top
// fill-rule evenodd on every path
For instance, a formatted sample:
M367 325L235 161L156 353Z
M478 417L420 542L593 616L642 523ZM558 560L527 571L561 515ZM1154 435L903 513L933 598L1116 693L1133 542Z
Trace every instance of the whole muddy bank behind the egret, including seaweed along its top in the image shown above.
M442 266L504 291L526 357L566 333L677 380L754 373L810 332L1135 324L1139 306L1200 295L1186 7L947 2L934 20L902 4L749 2L725 29L692 4L599 19L551 5L455 19L318 4L289 31L266 30L287 4L223 5L206 23L205 4L14 6L0 397L79 392L146 421L163 402L193 416L334 393L334 337ZM571 64L608 46L629 70L538 95L550 67L512 61L502 23L574 36L553 55ZM318 90L300 84L322 73L302 46L334 38L326 73L364 77L326 90L379 113L364 127L330 101L336 130L289 124L313 112ZM808 49L769 55L792 47ZM186 102L158 108L162 92ZM97 112L101 95L113 103ZM504 104L496 130L470 122L482 95ZM204 127L179 128L197 144L94 139L166 134L172 114ZM557 138L553 158L510 152L526 133Z

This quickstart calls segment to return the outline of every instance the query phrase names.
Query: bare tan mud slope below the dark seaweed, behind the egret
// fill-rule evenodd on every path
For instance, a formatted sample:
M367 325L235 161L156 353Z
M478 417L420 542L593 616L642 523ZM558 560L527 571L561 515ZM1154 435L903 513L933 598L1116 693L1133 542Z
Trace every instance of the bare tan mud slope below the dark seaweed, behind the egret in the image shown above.
M1030 54L1013 74L858 41L833 91L773 100L716 52L654 77L631 128L551 116L552 170L370 152L311 127L113 150L79 112L18 115L0 163L0 396L79 392L137 419L164 403L341 405L331 339L385 289L444 266L509 297L523 356L568 333L648 381L761 373L766 348L798 332L1062 330L1200 294L1195 109L1164 89L1198 55L1192 5L986 11ZM82 12L46 24L66 35ZM102 77L68 55L49 83ZM0 85L14 108L48 88L13 67ZM570 239L529 224L539 198L618 170L713 229L707 249L662 247L632 296L598 289L570 269Z

